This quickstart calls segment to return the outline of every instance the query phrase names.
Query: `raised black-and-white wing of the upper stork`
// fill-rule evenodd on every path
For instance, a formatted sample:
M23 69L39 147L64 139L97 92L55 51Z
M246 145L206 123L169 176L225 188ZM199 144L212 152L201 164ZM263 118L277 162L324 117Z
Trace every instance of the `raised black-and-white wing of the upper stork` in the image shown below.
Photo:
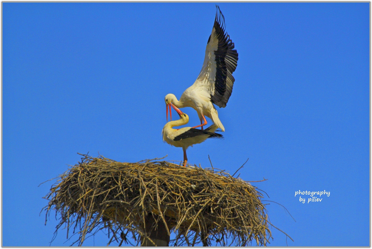
M216 7L216 17L205 49L202 70L194 85L207 91L211 95L212 103L225 107L235 81L232 73L237 67L238 53L230 36L225 32L224 16L219 7Z

